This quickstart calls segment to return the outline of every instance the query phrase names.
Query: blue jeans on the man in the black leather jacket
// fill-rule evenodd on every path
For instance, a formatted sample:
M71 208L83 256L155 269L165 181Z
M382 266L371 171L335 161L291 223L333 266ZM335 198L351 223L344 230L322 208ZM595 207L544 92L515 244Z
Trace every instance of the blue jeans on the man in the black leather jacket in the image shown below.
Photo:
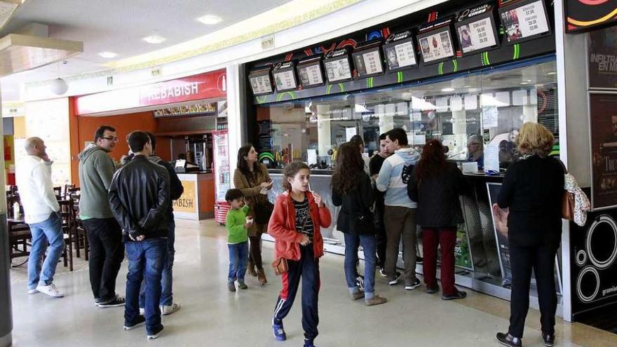
M161 273L167 259L167 239L147 238L124 245L128 259L124 321L133 325L140 315L139 297L142 280L146 281L146 331L154 333L161 327Z

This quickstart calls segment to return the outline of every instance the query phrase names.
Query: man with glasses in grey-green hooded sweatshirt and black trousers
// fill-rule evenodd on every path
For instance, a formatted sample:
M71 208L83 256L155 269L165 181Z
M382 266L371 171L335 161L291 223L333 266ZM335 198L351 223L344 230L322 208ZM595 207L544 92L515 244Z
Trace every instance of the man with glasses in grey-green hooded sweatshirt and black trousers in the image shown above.
M122 231L109 208L108 193L116 167L109 157L118 142L116 129L100 126L94 143L79 154L79 217L90 243L90 285L95 305L124 306L116 294L116 277L124 259Z

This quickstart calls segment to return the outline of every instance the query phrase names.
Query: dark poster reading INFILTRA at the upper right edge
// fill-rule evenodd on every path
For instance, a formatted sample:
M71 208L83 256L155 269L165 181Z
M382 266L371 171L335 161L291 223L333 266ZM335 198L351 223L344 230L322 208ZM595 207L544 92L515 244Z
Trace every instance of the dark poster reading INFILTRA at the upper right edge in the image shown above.
M590 89L617 90L617 27L589 33L587 69Z

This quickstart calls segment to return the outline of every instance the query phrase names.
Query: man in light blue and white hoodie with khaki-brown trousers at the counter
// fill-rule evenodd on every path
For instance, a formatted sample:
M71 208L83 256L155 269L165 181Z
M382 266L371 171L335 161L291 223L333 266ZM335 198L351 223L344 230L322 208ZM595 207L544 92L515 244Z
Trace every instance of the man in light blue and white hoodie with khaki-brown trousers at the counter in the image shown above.
M402 258L405 271L405 290L419 287L416 278L416 207L415 201L407 196L407 182L412 177L414 165L420 155L407 142L407 132L394 128L386 132L386 147L394 153L386 158L379 170L377 189L385 191L384 223L386 224L386 278L390 285L398 283L396 272L398 246L402 236Z

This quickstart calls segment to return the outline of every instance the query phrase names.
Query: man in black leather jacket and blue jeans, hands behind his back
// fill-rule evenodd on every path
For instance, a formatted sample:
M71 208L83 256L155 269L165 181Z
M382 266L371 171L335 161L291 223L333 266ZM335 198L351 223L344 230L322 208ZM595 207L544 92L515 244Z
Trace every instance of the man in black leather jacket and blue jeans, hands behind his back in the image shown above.
M167 259L169 173L149 161L152 144L145 132L134 131L128 145L135 153L130 163L116 171L109 186L109 205L122 227L128 275L124 329L146 322L148 339L156 339L161 325L161 273ZM142 280L146 280L145 318L139 311Z

